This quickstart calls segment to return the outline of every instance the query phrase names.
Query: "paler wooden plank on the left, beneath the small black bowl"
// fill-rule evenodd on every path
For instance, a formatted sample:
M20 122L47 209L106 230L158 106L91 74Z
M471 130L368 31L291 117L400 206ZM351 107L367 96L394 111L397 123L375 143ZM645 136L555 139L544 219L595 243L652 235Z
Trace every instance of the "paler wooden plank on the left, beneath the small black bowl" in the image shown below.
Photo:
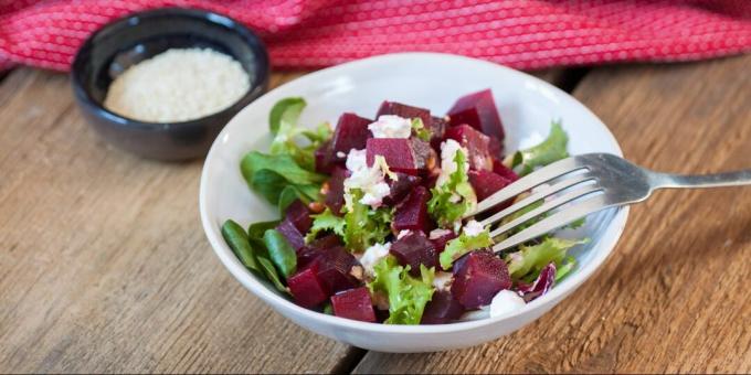
M11 73L0 129L0 373L331 372L359 353L236 282L201 229L202 162L108 147L66 76Z

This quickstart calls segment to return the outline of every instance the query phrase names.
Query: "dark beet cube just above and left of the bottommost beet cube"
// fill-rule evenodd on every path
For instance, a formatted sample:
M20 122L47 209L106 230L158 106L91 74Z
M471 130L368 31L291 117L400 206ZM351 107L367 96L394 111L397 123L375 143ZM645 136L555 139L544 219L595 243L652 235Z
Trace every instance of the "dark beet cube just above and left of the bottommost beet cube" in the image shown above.
M318 264L318 278L332 293L352 289L360 283L355 276L350 275L352 266L358 261L342 246L322 249L315 262Z

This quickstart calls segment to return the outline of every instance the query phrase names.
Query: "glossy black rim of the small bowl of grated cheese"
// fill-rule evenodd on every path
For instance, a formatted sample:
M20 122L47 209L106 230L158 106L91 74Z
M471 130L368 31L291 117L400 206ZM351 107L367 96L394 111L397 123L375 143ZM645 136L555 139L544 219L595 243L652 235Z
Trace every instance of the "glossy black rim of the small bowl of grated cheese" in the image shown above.
M257 57L255 64L256 69L254 72L255 74L254 77L252 77L256 78L256 82L252 84L252 86L245 94L243 94L243 96L241 96L229 107L218 113L187 121L151 122L137 120L123 115L118 115L107 109L103 104L98 103L98 100L95 100L89 94L89 92L86 89L85 85L83 84L85 82L85 78L83 77L84 73L83 67L87 63L86 58L84 58L84 55L87 55L88 52L94 47L94 41L101 35L109 32L119 32L120 29L127 30L128 28L134 26L137 28L141 23L140 20L163 17L181 17L184 19L193 19L224 26L225 29L228 29L228 31L234 32L235 34L241 36L248 44L257 45L257 47L252 47L253 52ZM133 23L136 22L135 21L136 19L138 19L138 21L134 25ZM224 15L221 13L203 9L166 7L131 12L113 21L109 21L102 28L97 29L95 32L88 35L88 38L86 38L84 43L81 44L81 47L78 47L78 51L76 51L73 62L71 63L70 75L71 85L73 86L73 92L76 98L78 98L82 105L88 107L92 111L96 113L97 116L104 117L105 119L113 124L124 126L127 128L137 128L141 130L161 130L165 129L165 127L194 127L194 126L202 127L207 122L219 121L226 118L226 116L236 115L236 113L245 108L250 103L252 103L254 99L258 98L262 94L266 92L268 87L268 79L271 77L271 61L268 56L268 50L266 49L266 45L264 44L261 36L258 36L255 32L253 32L244 24L242 24L242 22L236 21L230 18L229 15Z

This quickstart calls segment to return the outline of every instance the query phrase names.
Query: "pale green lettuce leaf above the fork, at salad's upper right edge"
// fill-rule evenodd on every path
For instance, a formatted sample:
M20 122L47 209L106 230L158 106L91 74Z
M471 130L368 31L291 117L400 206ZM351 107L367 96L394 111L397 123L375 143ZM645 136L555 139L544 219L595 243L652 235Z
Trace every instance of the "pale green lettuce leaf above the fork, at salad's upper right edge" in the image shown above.
M544 167L553 161L569 157L567 146L569 136L560 122L553 121L550 126L550 135L542 143L514 154L512 168L519 175L529 174L538 167Z

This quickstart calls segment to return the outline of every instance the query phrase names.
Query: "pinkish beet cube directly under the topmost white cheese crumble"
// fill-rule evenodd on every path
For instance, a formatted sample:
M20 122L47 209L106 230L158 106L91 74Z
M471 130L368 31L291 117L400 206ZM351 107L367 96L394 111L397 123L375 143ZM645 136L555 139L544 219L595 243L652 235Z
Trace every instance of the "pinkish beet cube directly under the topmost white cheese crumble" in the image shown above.
M393 172L417 175L420 168L412 141L406 138L370 138L367 147L368 165L372 167L376 156L382 156Z

